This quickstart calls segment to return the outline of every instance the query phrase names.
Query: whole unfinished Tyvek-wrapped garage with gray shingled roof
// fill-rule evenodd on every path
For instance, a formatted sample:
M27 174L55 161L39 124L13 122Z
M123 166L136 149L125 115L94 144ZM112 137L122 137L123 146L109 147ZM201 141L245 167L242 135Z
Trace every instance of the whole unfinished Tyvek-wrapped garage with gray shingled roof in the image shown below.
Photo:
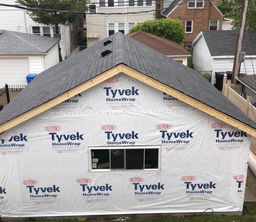
M0 112L0 133L2 220L242 215L256 124L118 32L40 73Z

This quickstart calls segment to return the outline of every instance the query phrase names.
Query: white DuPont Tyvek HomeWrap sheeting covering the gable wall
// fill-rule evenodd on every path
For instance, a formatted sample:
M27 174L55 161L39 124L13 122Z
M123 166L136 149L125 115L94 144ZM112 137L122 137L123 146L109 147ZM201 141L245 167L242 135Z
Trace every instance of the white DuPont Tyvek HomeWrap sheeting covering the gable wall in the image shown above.
M125 74L0 139L1 217L242 211L249 135ZM91 170L89 147L153 145L158 171Z

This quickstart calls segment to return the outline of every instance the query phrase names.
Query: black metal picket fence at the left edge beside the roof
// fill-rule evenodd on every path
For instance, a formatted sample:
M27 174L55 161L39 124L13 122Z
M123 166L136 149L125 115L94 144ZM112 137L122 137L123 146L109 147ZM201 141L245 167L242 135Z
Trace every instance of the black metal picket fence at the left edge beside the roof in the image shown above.
M0 88L0 111L17 96L26 85L7 85Z

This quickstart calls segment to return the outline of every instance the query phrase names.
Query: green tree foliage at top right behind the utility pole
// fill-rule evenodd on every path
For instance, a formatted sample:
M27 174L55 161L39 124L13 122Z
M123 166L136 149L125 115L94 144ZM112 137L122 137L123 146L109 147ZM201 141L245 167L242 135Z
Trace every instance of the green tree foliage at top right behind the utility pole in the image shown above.
M232 2L233 10L235 11L235 20L231 23L233 25L233 29L238 29L238 20L237 20L237 10L238 10L238 18L240 19L240 14L242 10L242 0L238 0L238 4L236 1ZM256 29L256 0L250 0L248 2L248 9L246 15L246 27L250 30Z

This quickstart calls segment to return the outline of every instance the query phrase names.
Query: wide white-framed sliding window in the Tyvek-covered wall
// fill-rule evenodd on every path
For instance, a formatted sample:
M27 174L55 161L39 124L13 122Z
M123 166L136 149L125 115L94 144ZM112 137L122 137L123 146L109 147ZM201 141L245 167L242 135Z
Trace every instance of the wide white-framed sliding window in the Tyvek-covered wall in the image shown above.
M94 171L159 170L160 146L90 147Z

